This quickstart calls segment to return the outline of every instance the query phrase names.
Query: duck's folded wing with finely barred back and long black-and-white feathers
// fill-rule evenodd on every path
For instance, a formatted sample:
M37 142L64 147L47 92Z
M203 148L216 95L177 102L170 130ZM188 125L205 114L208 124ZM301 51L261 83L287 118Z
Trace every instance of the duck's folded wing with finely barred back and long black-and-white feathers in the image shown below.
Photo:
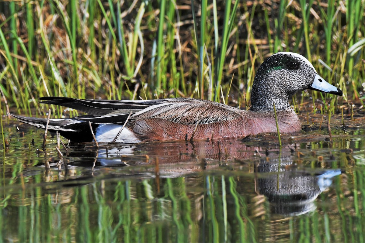
M123 123L129 114L130 122L138 119L160 118L177 124L208 124L237 118L237 109L220 103L191 99L167 98L146 101L118 101L103 99L74 99L43 97L41 103L62 105L89 115L75 117L93 124Z

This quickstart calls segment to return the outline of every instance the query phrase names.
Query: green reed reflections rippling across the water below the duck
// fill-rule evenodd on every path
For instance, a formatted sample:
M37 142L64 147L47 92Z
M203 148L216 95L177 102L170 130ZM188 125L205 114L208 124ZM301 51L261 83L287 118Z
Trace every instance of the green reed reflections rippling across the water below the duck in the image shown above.
M26 136L13 141L22 147L24 141L33 137ZM11 146L9 149L15 154L7 156L7 163L3 163L4 170L11 173L2 179L5 186L0 194L0 217L4 230L0 239L12 236L22 242L262 242L290 237L291 242L362 242L365 176L362 158L355 156L361 153L355 150L361 151L364 144L361 140L349 142L347 138L334 142L343 147L332 151L336 158L332 166L346 168L349 173L338 176L319 195L315 211L291 217L272 214L268 200L258 195L260 191L256 189L266 175L247 173L250 168L253 170L255 161L240 164L238 170L228 167L222 171L222 166L218 166L212 172L205 170L174 178L135 175L141 168L153 168L146 165L114 166L114 176L96 171L90 177L81 169L70 175L75 180L64 180L64 170L46 172L36 166L33 173L26 173L32 166L25 169L24 160L19 158L28 154L28 149ZM311 146L317 148L318 155L328 152L327 142L313 142ZM346 148L354 148L354 156L343 152ZM271 157L275 154L270 152ZM57 154L50 150L39 157L34 153L32 156L29 159L34 165ZM310 157L304 161L318 164L316 156ZM357 169L354 159L356 163L360 161ZM206 162L217 165L215 161ZM126 175L117 177L118 173ZM22 178L26 183L24 189ZM332 203L326 203L329 201ZM5 217L7 213L13 217ZM277 234L281 230L286 233Z

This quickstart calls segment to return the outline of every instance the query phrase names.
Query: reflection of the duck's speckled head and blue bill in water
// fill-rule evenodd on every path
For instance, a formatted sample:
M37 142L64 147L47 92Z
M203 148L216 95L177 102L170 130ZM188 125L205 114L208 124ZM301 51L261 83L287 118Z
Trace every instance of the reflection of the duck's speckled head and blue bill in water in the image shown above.
M259 192L270 201L271 211L300 215L314 211L314 200L328 188L341 169L300 170L293 162L261 161L257 166Z

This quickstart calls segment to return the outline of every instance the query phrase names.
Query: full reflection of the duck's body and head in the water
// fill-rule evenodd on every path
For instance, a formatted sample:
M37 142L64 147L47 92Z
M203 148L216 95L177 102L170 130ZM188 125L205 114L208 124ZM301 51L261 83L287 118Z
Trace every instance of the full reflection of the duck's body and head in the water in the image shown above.
M297 166L294 162L297 155L292 149L283 148L279 152L274 144L267 142L161 142L104 146L97 153L92 152L95 151L93 149L89 150L91 152L86 157L91 160L97 158L93 165L95 173L106 166L119 166L122 168L116 172L119 175L138 176L140 179L190 176L203 171L233 171L238 176L239 172L256 172L256 192L266 196L273 213L281 215L300 215L313 211L314 200L331 185L334 176L341 174L341 169L308 170L305 166ZM79 152L75 150L74 153ZM70 154L70 157L80 158L80 154ZM81 161L85 163L87 160ZM79 160L70 165L80 166L80 163ZM91 165L90 161L88 165ZM241 193L247 193L245 190L248 187L243 188Z

